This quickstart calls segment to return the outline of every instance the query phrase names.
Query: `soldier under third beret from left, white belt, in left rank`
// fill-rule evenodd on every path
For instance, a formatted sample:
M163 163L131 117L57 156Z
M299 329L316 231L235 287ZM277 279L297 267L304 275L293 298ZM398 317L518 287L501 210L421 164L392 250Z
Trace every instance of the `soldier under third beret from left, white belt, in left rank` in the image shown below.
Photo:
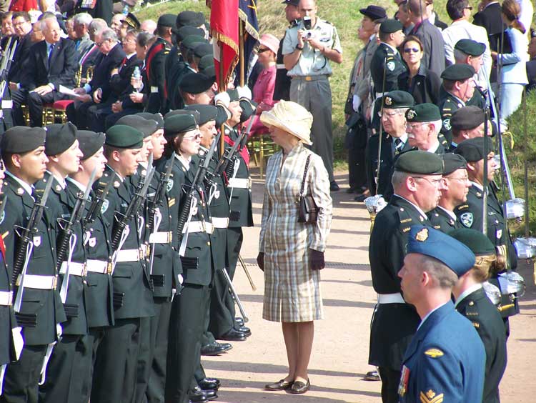
M90 191L90 199L86 202L86 211L82 215L84 230L84 249L86 252L86 281L84 282L84 299L87 313L87 349L89 354L84 355L86 361L81 360L77 376L83 379L80 399L89 401L91 382L93 378L94 360L99 349L104 329L114 324L114 307L112 304L111 282L111 244L110 224L101 214L101 206L105 202L99 193L106 186L106 177L102 178L106 166L104 156L104 133L79 130L76 134L79 148L82 151L79 170L67 179L66 194L69 200L74 201L79 192L91 187L91 172L96 169L95 183L97 192ZM99 201L100 200L100 201ZM106 203L108 203L106 201ZM94 212L90 214L89 212Z

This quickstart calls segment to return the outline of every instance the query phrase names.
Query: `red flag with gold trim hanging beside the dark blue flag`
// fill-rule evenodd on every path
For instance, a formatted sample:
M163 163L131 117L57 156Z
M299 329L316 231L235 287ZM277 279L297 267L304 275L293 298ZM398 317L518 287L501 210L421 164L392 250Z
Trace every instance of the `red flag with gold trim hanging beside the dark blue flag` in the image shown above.
M210 30L214 38L217 83L222 85L220 91L224 91L238 63L238 0L212 0ZM223 65L223 77L219 76L220 63Z

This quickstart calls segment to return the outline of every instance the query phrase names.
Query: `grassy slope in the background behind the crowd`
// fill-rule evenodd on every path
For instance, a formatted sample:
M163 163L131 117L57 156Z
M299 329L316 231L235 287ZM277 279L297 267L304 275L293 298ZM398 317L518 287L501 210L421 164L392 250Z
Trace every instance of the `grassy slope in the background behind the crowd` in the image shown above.
M435 11L440 15L440 19L450 24L450 18L445 11L446 0L435 0ZM477 9L477 0L471 1L474 9ZM357 29L359 28L362 15L360 8L368 4L379 4L387 9L387 15L392 16L396 11L396 6L390 0L366 1L366 0L317 0L318 15L322 19L332 22L337 27L341 40L344 61L342 64L332 64L333 75L330 79L333 96L333 133L334 133L334 156L335 168L347 169L344 151L344 101L347 96L347 86L349 71L352 69L354 57L362 44L357 39ZM158 16L165 13L178 14L184 10L203 11L209 20L210 11L204 1L169 1L161 6L152 6L142 9L137 13L140 20L158 19ZM284 6L280 0L257 0L257 16L259 17L259 30L261 34L270 33L277 37L282 37L287 21L284 18ZM510 131L515 139L513 149L507 149L507 157L510 162L510 171L515 184L517 197L524 198L524 167L529 165L529 190L530 195L530 228L536 233L536 196L533 194L536 185L536 94L527 97L527 139L524 137L523 111L515 112L510 120ZM512 223L515 232L523 232L524 223Z

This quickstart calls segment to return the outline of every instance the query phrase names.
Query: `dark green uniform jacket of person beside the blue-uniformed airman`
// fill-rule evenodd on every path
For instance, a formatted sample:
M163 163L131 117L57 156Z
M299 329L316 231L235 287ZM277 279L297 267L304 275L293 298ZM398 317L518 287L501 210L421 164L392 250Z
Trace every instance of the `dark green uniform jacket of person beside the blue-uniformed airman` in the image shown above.
M499 403L499 384L506 369L505 327L497 307L480 288L456 304L457 312L467 317L477 329L486 351L486 372L482 402Z

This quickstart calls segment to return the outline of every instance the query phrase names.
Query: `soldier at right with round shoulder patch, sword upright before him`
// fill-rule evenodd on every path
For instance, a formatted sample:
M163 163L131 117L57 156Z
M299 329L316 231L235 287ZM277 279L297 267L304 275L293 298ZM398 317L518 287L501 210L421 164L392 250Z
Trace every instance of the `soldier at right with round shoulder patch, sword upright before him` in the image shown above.
M482 193L484 192L484 164L487 163L487 183L490 184L495 177L497 164L490 151L484 154L484 137L465 140L457 146L456 154L462 155L467 160L467 174L471 181L471 187L467 194L467 203L460 204L455 209L458 220L463 227L482 231L482 219L484 217L482 207ZM498 259L505 259L507 267L515 270L517 267L517 252L512 244L510 231L505 227L505 214L502 204L497 200L497 195L492 186L487 186L487 237L495 245ZM515 296L507 294L507 290L501 287L498 277L500 274L493 273L490 282L501 289L501 316L505 322L507 336L510 334L508 317L519 313L519 305ZM504 290L503 290L504 289Z

